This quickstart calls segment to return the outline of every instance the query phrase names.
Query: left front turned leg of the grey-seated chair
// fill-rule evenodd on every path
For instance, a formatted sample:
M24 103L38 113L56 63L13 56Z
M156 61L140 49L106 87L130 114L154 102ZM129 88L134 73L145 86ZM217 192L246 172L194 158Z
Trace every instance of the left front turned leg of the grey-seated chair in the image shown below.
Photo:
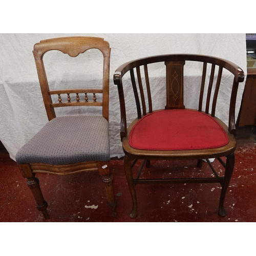
M44 216L45 219L48 219L49 218L49 215L47 212L48 204L45 201L44 197L42 196L39 180L35 177L28 178L27 184L34 196L34 199L36 202L36 208L42 212L42 215Z

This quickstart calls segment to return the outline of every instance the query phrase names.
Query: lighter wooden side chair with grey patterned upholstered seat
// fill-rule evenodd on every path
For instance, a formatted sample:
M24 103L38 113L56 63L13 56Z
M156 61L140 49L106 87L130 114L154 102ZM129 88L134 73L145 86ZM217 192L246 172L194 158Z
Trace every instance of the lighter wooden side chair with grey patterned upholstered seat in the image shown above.
M84 82L87 85L82 89L64 89L65 86L59 82L61 85L58 84L58 90L50 90L47 69L43 62L44 55L57 50L57 53L60 51L76 57L90 49L99 52L96 57L101 61L103 78L100 75L99 81L101 83L102 79L102 84L97 84L97 88L101 89L94 89L96 84L92 87L93 82L87 80ZM49 51L52 52L48 53ZM42 196L36 173L67 175L98 170L102 176L108 205L112 209L112 215L116 216L109 144L110 52L109 43L98 37L60 37L41 40L34 45L33 55L49 122L20 148L16 154L16 162L23 177L28 179L27 184L34 196L37 209L46 219L49 218L48 204ZM97 95L101 95L99 98L102 100L98 100ZM54 101L52 97L57 100ZM102 108L102 112L99 110L99 114L93 112L95 115L56 117L54 109L64 106L87 109L94 106Z

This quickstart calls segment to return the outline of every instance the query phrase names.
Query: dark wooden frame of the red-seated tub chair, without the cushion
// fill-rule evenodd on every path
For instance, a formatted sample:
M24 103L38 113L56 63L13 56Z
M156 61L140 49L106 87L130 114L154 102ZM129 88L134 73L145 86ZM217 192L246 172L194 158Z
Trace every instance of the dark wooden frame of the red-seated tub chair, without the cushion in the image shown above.
M156 62L164 62L166 65L166 106L165 109L185 109L183 104L183 69L185 61L196 61L203 62L203 72L202 72L202 81L201 89L199 95L199 104L196 111L204 112L211 117L215 118L226 131L229 143L225 146L218 148L208 148L205 150L178 150L178 151L153 151L153 150L138 150L129 145L129 135L133 126L141 119L141 117L147 115L147 113L152 113L152 98L151 98L151 89L150 89L150 78L148 76L148 65ZM205 111L202 110L203 105L203 95L205 89L205 80L206 80L206 71L207 63L211 66L209 84L207 90L207 98ZM216 81L216 87L214 92L214 98L212 99L211 113L209 113L210 106L210 97L211 91L214 87L214 74L216 67L219 66L218 78ZM143 90L143 79L141 78L141 69L144 69L144 88L148 98L148 106L146 108L145 95ZM234 75L232 91L229 102L229 118L228 126L222 122L219 118L215 116L216 104L218 92L221 84L221 76L223 69L228 70ZM135 78L135 71L137 73L137 83ZM125 99L123 91L123 82L122 78L127 73L130 72L131 83L134 91L136 106L137 106L137 119L135 119L129 127L127 127L126 121L126 110L125 110ZM175 76L173 76L175 74ZM137 197L136 197L136 184L160 184L160 183L220 183L222 186L220 203L219 203L219 215L226 216L226 210L224 209L224 200L231 179L231 175L234 167L234 151L236 150L236 125L235 125L235 107L236 107L236 98L238 92L239 83L244 80L243 70L235 65L234 63L227 61L225 59L216 58L212 56L205 55L194 55L194 54L171 54L171 55L158 55L140 58L132 60L121 65L116 72L114 73L114 83L117 85L120 101L120 115L121 115L121 127L120 127L120 136L122 141L122 148L125 154L124 156L124 170L129 185L133 208L130 214L131 218L135 218L138 215L138 206L137 206ZM173 87L174 79L178 79L179 88L177 90ZM125 84L128 82L125 80ZM139 91L139 93L138 93ZM228 103L227 103L228 104ZM141 113L142 106L142 113ZM148 109L148 111L146 110ZM155 110L158 111L158 110ZM129 109L131 113L131 109ZM130 121L130 120L129 120ZM221 157L226 157L226 162L221 159ZM214 166L210 163L209 159L217 158L220 163L225 167L224 177L220 177ZM139 170L139 173L136 178L133 177L133 167L137 160L142 159L143 163ZM214 172L215 178L184 178L184 179L140 179L140 174L142 172L144 163L146 167L150 167L150 160L197 160L198 167L202 166L202 159L206 159L207 163L210 165L210 168Z

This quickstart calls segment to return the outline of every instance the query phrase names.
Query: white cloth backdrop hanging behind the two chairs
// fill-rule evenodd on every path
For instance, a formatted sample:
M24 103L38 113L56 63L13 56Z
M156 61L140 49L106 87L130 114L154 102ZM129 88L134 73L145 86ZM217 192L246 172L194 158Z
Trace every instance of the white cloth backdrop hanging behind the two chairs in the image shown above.
M194 53L228 59L240 66L246 74L245 34L0 34L0 140L12 159L19 148L48 121L32 54L33 46L43 39L74 35L103 37L109 41L112 49L110 66L112 157L123 155L119 136L119 100L117 88L113 83L113 74L122 63L158 54ZM57 82L54 79L63 81L70 70L64 69L62 73L59 70L56 71L55 61L51 58L48 61L49 83L54 86ZM89 72L93 71L93 65L86 66L86 69ZM244 83L240 84L238 92L236 116L240 108ZM222 93L223 102L225 102L225 92ZM154 94L155 100L158 99L159 92L153 92ZM127 97L129 99L129 94ZM185 95L184 101L186 107L193 107L191 95ZM132 106L133 101L126 106L128 112L129 104ZM62 110L56 111L57 115L63 113ZM77 110L69 110L67 113L80 114ZM223 105L217 109L216 115L226 122L226 113L228 111ZM133 114L128 114L129 120L133 117Z

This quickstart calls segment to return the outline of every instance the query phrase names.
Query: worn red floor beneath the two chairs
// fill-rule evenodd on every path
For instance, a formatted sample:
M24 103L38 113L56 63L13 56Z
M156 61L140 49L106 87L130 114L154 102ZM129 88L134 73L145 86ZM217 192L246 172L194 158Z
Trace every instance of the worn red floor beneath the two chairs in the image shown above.
M123 160L113 159L112 170L117 200L117 217L106 205L104 186L98 173L68 176L37 174L48 202L50 219L36 209L26 180L6 151L0 154L0 222L255 222L256 221L256 140L239 139L236 164L226 196L226 217L218 215L220 184L137 185L138 217L129 217L132 201L126 183ZM218 160L213 163L223 167ZM164 166L169 167L164 167ZM196 161L152 162L144 175L153 177L193 173L202 177L209 171Z

